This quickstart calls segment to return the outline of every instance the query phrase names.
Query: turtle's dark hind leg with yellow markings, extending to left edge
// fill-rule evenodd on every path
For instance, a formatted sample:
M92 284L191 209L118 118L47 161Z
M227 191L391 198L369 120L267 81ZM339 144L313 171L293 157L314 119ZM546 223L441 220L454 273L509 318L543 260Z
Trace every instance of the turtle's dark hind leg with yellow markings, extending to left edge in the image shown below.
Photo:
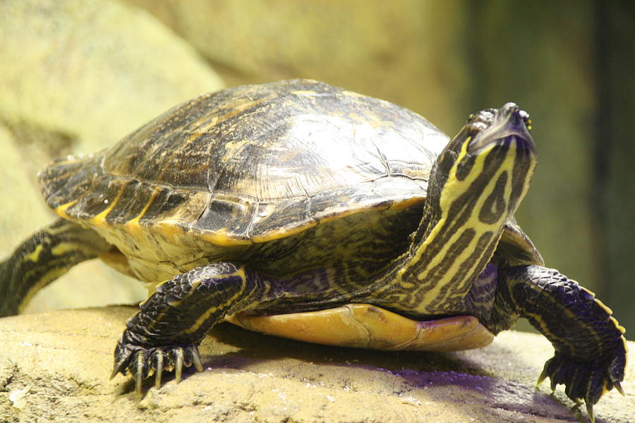
M42 228L0 263L0 317L18 314L38 290L110 249L95 231L71 221Z

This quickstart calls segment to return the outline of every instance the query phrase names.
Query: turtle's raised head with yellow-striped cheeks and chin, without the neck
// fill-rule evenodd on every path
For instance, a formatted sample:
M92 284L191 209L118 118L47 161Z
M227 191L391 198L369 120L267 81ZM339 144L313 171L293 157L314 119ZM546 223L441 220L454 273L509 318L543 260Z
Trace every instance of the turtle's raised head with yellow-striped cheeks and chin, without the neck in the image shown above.
M439 212L453 215L452 207L468 202L480 221L502 225L527 192L536 165L530 128L529 115L514 103L471 115L435 164L429 198L437 197Z

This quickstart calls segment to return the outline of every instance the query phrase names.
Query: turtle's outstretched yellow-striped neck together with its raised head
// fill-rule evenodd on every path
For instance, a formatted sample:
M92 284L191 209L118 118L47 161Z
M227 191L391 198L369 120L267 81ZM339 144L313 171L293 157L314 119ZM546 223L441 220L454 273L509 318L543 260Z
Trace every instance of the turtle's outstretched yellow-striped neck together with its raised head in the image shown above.
M378 305L415 317L457 314L478 308L468 296L477 280L483 290L495 290L492 269L479 276L536 164L533 141L518 114L502 111L486 116L488 125L468 122L437 159L421 223L409 250L382 279ZM480 290L472 295L480 296Z

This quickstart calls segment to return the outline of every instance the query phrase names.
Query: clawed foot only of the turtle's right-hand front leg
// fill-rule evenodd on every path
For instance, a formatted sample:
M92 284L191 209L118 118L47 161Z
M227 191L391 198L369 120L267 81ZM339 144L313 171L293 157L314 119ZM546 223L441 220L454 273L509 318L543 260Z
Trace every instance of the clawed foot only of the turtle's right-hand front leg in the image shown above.
M593 405L604 393L612 388L624 395L619 384L624 379L624 355L615 355L611 360L602 363L582 363L571 360L560 353L556 353L545 363L543 372L538 377L536 386L540 385L548 376L551 379L551 390L557 385L565 386L564 393L576 403L582 400L586 403L586 411L591 422L595 422Z

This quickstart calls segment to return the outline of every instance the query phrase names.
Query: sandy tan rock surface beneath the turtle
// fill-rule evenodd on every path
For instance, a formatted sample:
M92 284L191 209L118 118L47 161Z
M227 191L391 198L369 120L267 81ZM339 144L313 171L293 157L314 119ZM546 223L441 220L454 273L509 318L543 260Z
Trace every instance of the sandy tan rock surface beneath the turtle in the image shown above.
M112 351L135 307L0 319L1 422L586 422L560 387L533 385L548 341L509 331L481 350L388 353L333 348L214 328L202 343L205 372L108 381ZM635 350L630 343L631 351ZM607 393L596 422L634 422L633 353L627 396Z

